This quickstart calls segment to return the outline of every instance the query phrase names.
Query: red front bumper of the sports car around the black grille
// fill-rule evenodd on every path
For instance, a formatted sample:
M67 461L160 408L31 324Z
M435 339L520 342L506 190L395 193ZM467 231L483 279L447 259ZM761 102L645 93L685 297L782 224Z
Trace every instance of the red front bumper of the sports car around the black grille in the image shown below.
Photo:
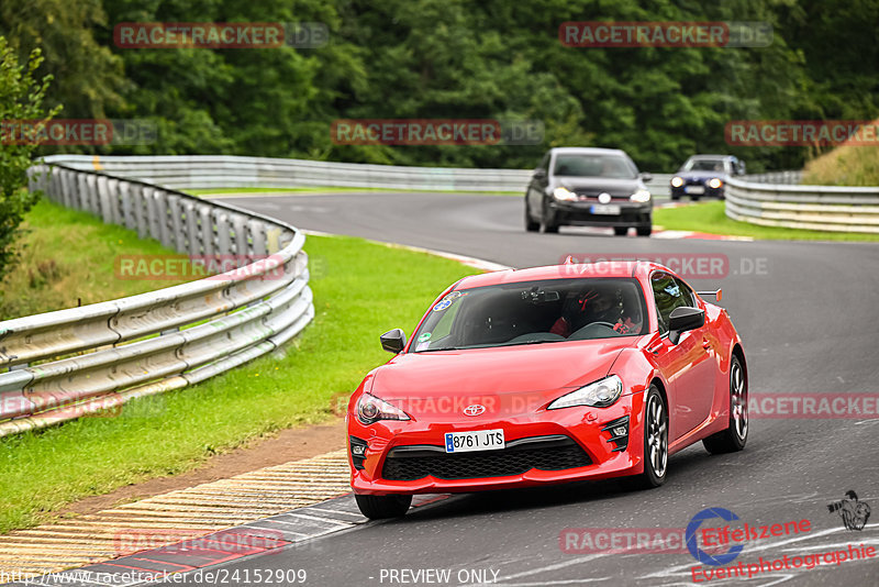
M352 488L371 495L468 492L636 475L644 469L643 402L642 391L610 408L541 410L468 422L385 420L364 425L349 414ZM621 440L607 427L625 418L628 434ZM446 432L494 429L503 429L507 447L445 452ZM366 450L355 466L351 447L363 446L360 441ZM500 473L510 463L516 470Z

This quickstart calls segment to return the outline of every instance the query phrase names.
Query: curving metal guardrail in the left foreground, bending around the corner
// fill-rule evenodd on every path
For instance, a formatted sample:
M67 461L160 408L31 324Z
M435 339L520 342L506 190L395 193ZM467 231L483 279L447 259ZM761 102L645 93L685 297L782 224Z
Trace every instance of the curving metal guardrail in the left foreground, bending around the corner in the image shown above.
M51 167L32 167L30 184L58 203L183 254L243 263L140 296L0 322L0 367L9 369L0 373L0 436L201 381L277 348L313 318L305 239L296 228L143 181Z

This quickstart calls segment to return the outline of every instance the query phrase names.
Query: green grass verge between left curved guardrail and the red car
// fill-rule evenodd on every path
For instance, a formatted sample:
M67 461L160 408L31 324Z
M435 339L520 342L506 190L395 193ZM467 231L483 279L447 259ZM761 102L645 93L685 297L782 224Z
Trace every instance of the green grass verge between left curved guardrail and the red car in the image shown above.
M135 400L115 418L0 439L0 532L46 521L87 496L192 469L275 431L325 421L390 358L379 334L411 332L437 294L476 272L353 237L309 236L305 250L315 319L283 352Z

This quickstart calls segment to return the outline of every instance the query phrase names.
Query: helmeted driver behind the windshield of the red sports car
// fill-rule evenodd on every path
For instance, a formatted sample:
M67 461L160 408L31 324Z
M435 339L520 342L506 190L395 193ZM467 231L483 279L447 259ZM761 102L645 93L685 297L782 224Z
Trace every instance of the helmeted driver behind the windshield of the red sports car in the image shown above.
M620 291L588 289L565 300L561 317L556 320L549 332L567 339L574 332L594 322L610 324L620 334L641 331L641 320L633 320L631 312L625 310Z

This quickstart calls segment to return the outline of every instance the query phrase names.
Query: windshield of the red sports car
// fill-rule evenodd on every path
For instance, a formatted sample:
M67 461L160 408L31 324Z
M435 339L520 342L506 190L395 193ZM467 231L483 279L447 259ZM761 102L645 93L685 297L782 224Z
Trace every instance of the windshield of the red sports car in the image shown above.
M415 352L644 334L635 279L548 279L449 292L415 333Z

